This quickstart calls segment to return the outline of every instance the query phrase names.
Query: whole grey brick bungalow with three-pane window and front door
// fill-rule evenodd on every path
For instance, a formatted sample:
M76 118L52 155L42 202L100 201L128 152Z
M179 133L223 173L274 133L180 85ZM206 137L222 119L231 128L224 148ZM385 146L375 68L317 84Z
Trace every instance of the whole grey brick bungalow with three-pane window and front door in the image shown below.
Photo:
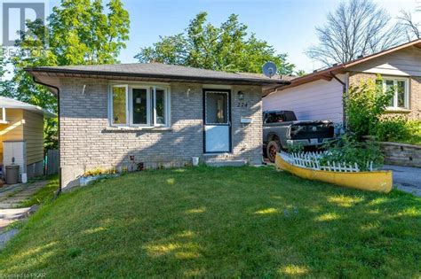
M26 70L60 99L63 188L97 167L261 164L262 88L287 82L159 63Z

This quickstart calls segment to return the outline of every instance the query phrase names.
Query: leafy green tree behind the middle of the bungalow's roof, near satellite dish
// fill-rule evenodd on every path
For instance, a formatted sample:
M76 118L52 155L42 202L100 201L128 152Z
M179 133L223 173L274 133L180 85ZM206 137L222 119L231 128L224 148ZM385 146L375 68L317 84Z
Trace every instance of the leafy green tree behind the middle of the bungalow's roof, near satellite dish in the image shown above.
M294 65L286 54L276 54L274 47L247 34L247 26L232 14L215 27L201 12L190 21L184 33L160 37L159 42L140 49L139 62L161 62L227 72L261 73L267 61L273 61L279 74L292 74Z

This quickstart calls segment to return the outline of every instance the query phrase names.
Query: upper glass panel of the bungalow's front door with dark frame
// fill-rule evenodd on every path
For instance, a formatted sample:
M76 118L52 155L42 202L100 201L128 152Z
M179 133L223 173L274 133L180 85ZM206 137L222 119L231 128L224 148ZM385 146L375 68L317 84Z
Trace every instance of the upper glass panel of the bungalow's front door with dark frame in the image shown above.
M228 95L206 93L206 124L228 123Z

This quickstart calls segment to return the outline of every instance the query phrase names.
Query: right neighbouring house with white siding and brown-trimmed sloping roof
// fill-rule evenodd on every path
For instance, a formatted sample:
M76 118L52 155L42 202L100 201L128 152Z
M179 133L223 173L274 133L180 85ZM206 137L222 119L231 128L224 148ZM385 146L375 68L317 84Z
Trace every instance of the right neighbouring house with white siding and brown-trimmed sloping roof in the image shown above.
M385 89L393 88L388 113L421 119L421 39L389 50L338 64L298 77L289 85L264 90L263 109L292 110L298 120L332 120L342 123L342 99L350 86L383 78Z

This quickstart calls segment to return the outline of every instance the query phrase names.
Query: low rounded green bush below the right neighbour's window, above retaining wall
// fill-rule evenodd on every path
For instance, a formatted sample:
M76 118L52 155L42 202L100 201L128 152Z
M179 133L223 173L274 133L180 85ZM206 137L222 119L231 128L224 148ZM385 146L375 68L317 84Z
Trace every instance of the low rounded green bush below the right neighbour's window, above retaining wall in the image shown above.
M401 115L387 116L378 121L376 136L379 141L401 141L411 135L411 128L406 117Z

